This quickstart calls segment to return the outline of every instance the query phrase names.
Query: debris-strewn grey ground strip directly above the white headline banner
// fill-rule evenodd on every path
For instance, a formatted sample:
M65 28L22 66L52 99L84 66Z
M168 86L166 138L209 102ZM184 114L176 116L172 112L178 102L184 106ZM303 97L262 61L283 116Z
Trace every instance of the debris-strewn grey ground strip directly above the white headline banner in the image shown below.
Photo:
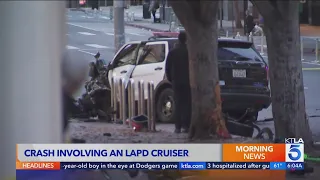
M173 126L173 125L171 125ZM134 132L127 125L100 122L71 122L72 138L84 139L87 143L241 143L252 142L251 138L234 136L232 139L189 141L187 134L176 134L169 128L157 128L157 132Z

